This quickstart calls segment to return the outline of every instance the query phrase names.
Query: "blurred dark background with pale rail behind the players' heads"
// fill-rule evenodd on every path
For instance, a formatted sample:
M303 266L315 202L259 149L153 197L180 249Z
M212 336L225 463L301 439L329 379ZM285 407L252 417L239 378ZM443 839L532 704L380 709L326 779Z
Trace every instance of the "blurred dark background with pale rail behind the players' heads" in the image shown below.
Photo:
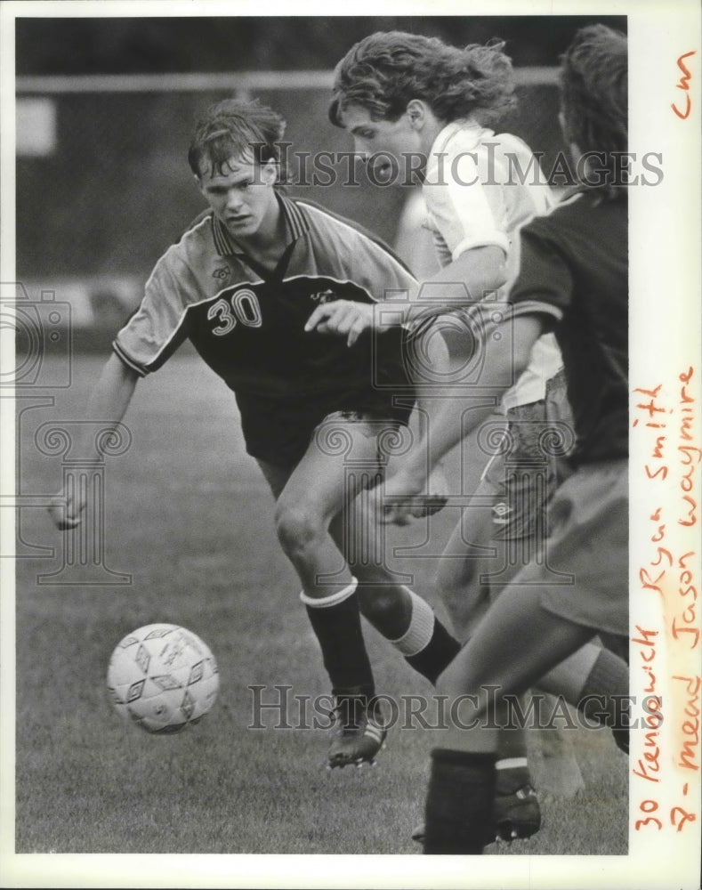
M615 16L18 19L18 277L31 299L48 289L70 304L76 345L104 348L158 257L204 206L186 158L201 111L231 95L258 97L286 117L292 152L349 151L327 120L332 72L375 30L457 45L504 39L519 106L498 129L553 163L564 148L558 58L594 20L626 29ZM429 271L412 190L377 188L356 170L358 186L344 187L340 175L290 193L358 220L417 274ZM301 172L290 173L299 183Z

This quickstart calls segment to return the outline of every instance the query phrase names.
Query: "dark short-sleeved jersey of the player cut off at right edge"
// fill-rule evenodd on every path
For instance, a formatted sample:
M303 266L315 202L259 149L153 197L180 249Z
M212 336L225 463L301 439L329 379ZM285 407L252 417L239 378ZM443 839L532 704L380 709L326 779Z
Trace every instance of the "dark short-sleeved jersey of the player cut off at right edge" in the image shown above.
M625 193L580 192L521 230L515 315L555 323L577 433L575 465L628 454L628 262Z

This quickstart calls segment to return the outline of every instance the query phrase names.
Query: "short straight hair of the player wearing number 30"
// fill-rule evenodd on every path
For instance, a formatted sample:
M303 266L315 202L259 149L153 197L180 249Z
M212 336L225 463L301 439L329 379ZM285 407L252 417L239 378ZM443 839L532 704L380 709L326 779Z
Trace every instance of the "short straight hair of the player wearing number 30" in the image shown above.
M241 158L253 151L258 164L270 159L280 161L279 142L285 134L286 122L280 115L259 101L225 99L211 105L195 128L188 163L196 176L203 173L206 161L213 171L222 173L230 158Z

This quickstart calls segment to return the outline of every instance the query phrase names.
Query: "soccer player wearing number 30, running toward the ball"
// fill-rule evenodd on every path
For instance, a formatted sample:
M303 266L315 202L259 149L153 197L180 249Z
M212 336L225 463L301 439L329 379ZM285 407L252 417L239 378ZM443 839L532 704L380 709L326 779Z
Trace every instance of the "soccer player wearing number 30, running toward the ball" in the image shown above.
M407 424L412 410L403 334L390 332L377 344L368 336L348 349L305 331L304 322L315 305L343 296L371 302L415 280L354 223L279 192L284 127L256 102L208 109L189 162L209 211L158 261L86 413L117 423L140 377L185 339L230 386L246 449L276 498L278 539L300 579L331 680L328 763L362 764L374 759L386 726L359 610L431 681L459 646L428 603L383 568L372 549L377 536L360 542L364 554L352 534L363 527L364 490L383 473L383 437ZM88 442L83 452L98 457ZM77 525L83 498L65 491L57 499L60 527Z

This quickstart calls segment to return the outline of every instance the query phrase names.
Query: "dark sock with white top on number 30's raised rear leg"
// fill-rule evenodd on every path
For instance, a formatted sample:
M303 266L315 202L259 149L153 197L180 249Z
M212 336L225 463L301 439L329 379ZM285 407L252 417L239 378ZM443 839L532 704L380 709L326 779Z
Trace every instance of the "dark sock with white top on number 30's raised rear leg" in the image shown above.
M448 633L426 600L408 587L404 589L412 602L409 626L399 640L390 642L405 656L410 667L436 683L437 677L456 658L461 644Z

